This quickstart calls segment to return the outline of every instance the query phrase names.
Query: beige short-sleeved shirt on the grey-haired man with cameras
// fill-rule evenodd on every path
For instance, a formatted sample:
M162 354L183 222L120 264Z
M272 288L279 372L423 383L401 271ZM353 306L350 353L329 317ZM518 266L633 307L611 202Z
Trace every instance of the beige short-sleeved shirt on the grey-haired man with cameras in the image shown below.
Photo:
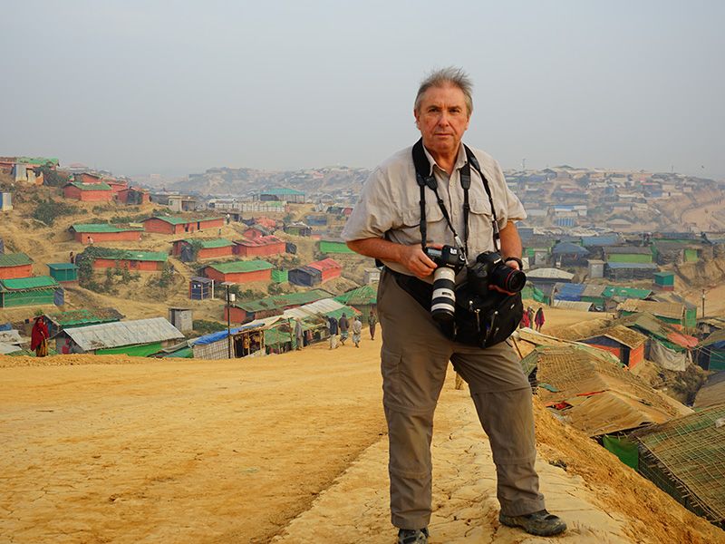
M423 148L425 149L425 148ZM398 151L372 171L365 181L358 203L343 229L345 241L364 238L386 238L404 245L420 244L420 188L415 180L412 147ZM505 228L508 221L526 219L527 212L521 201L508 189L503 171L485 151L471 149L488 180L498 227ZM466 164L466 151L461 145L451 176L442 170L425 150L435 179L438 193L448 210L450 221L461 240L464 239L463 189L460 169ZM471 168L469 189L469 260L483 251L493 251L493 216L483 182ZM443 217L435 194L426 188L426 223L428 244L455 246L453 233ZM398 263L385 262L387 267L403 274L411 272Z

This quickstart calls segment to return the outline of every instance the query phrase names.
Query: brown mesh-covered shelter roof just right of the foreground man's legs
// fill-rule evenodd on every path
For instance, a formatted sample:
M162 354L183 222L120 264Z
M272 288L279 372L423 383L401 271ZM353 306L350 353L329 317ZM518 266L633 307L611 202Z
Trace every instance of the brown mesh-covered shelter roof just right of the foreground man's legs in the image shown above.
M588 345L539 346L521 366L541 401L590 437L691 412L624 370L614 355Z

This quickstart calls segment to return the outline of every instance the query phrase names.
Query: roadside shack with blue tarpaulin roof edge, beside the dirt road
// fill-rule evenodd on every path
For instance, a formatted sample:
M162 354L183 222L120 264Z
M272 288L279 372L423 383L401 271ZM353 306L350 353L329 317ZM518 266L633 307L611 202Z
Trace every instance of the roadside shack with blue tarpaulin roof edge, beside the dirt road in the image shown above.
M219 331L198 337L192 343L195 359L228 359L266 355L264 330L267 323L254 321L230 331ZM229 334L230 333L230 334Z

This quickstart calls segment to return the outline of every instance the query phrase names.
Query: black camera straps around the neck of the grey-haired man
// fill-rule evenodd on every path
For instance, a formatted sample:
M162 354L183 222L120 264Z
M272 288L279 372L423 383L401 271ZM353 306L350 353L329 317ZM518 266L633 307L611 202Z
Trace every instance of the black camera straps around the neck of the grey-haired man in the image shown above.
M498 251L498 243L500 239L500 234L498 231L498 220L496 218L496 209L493 206L493 197L491 196L491 189L488 187L488 180L486 179L486 176L483 175L483 172L480 169L480 166L478 165L478 160L476 159L476 155L473 154L473 151L470 151L469 147L465 144L463 144L463 148L466 150L466 164L463 165L463 167L460 169L460 186L463 189L463 237L464 241L461 247L460 238L458 233L456 232L456 229L453 228L453 224L450 222L450 217L448 210L446 209L446 205L443 202L443 199L440 198L438 194L438 181L436 181L435 176L432 173L432 168L430 166L430 161L428 160L428 157L425 154L425 151L423 150L423 140L422 138L415 143L412 150L412 156L413 156L413 164L415 166L415 180L418 182L418 186L420 187L420 245L425 249L426 247L426 241L427 241L427 223L426 223L426 217L425 217L425 188L428 187L430 190L433 191L433 194L436 196L436 200L438 201L438 206L440 208L440 211L443 213L443 217L446 219L446 223L448 224L448 227L450 228L450 231L453 233L453 238L456 240L456 244L459 246L459 249L462 249L465 251L464 256L468 258L469 255L469 213L470 213L470 205L469 205L469 189L470 189L470 167L472 166L474 170L478 172L478 175L481 178L481 181L483 182L483 188L486 190L486 195L488 196L488 203L491 206L491 215L493 217L492 221L492 228L493 228L493 247L495 251Z

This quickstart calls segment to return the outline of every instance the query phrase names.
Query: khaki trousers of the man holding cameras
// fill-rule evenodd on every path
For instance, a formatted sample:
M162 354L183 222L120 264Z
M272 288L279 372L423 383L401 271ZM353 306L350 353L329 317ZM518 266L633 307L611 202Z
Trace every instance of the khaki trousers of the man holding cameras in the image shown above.
M450 341L383 271L378 287L382 329L382 403L390 441L391 521L401 529L430 522L433 413L448 362L469 384L496 463L501 511L518 516L545 508L538 492L531 387L507 343L480 349Z

